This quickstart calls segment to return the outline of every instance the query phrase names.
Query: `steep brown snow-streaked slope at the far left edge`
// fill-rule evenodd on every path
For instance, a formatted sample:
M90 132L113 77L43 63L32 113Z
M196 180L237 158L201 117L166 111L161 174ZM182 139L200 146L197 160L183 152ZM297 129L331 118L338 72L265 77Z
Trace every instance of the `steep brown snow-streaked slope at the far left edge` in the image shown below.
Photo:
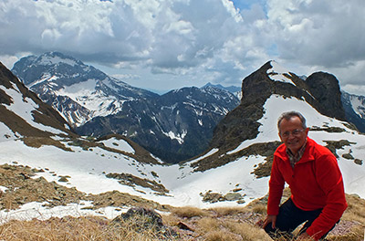
M0 141L72 135L68 123L0 63Z

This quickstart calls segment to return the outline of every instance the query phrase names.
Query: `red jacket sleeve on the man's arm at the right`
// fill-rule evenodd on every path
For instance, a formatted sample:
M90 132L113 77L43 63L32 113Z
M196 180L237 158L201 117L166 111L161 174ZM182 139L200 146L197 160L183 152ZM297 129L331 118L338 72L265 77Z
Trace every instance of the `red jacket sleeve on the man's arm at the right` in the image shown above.
M330 153L318 158L315 172L317 182L326 194L326 205L318 218L308 227L307 233L318 240L321 236L328 233L331 227L339 221L348 204L346 202L342 175L334 155Z

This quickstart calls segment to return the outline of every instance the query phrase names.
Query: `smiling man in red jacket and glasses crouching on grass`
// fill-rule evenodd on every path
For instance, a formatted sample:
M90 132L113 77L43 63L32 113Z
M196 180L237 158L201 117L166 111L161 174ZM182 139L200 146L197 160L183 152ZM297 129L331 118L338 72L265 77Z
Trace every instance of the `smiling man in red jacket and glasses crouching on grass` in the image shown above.
M283 113L277 127L283 144L274 153L264 229L273 239L293 240L292 231L307 222L296 240L323 239L348 206L337 159L308 138L299 112ZM285 183L291 196L279 207Z

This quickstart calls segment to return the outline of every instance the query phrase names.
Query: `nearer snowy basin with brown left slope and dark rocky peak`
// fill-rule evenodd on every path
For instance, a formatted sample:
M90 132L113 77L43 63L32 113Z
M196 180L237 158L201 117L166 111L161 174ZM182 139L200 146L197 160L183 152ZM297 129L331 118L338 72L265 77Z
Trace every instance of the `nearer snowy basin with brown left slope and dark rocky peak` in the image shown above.
M186 89L175 91L183 95ZM7 197L0 200L2 222L65 215L113 219L131 205L147 203L153 208L249 204L267 194L280 143L276 121L287 110L299 110L307 118L309 137L335 153L345 192L365 198L365 135L346 121L333 75L318 72L299 79L270 61L243 80L242 96L201 155L166 164L123 135L79 136L0 64L0 169L15 170L20 180L8 177L0 183L0 194ZM32 195L26 195L29 180L38 183ZM49 194L43 192L46 185L52 187Z

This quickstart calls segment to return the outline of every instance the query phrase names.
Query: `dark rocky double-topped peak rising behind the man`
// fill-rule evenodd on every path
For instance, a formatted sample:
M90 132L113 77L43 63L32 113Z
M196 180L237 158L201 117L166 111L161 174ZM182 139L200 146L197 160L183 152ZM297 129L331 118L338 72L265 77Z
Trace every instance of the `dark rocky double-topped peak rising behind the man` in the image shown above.
M260 126L257 121L263 117L263 106L274 94L306 100L323 115L345 120L339 80L333 75L315 73L304 80L275 61L269 61L242 81L241 104L217 125L211 147L229 150L242 141L254 139Z

